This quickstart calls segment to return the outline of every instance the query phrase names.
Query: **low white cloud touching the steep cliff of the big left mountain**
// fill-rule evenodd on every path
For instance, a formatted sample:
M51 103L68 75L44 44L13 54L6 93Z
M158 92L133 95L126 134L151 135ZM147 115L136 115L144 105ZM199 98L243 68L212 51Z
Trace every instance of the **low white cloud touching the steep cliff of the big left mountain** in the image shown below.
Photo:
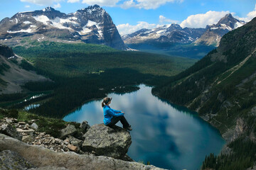
M142 28L153 29L153 28L156 28L159 26L161 26L161 25L156 25L155 23L146 23L144 21L140 21L135 26L132 26L129 23L120 24L117 26L117 30L120 35L125 35L125 34L129 34L129 33L134 33L135 31L140 30Z

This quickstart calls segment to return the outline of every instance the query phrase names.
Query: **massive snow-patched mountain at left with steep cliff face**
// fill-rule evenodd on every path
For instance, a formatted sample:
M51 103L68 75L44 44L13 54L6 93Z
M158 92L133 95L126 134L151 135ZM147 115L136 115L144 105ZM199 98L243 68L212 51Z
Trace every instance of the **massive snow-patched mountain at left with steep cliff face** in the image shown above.
M1 43L16 45L25 37L38 41L83 41L127 49L110 15L97 5L68 14L47 7L16 13L0 22Z

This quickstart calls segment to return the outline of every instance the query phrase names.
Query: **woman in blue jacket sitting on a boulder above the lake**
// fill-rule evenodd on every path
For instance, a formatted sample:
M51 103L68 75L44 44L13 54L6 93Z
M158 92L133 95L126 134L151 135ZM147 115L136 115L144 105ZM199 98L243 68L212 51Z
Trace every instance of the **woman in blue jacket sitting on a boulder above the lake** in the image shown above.
M112 98L106 97L106 98L103 98L103 101L102 101L102 108L104 112L104 124L112 127L120 120L125 130L132 130L131 125L129 125L127 120L124 118L124 112L116 111L110 108L111 100Z

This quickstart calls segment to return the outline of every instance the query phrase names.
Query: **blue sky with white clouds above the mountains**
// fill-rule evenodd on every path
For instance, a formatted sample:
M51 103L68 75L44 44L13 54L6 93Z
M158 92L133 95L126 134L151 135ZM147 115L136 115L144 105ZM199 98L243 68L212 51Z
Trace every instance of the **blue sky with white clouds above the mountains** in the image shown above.
M47 6L74 13L94 4L110 14L121 35L171 23L182 28L206 28L227 13L247 22L256 17L255 0L0 0L0 21Z

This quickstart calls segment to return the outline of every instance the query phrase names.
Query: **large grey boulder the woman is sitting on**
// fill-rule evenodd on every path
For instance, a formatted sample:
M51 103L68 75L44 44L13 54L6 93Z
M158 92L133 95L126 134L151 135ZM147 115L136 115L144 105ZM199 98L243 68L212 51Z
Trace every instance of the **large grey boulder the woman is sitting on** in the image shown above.
M132 144L129 132L116 125L113 128L104 124L93 125L84 137L82 151L117 159L122 159Z

